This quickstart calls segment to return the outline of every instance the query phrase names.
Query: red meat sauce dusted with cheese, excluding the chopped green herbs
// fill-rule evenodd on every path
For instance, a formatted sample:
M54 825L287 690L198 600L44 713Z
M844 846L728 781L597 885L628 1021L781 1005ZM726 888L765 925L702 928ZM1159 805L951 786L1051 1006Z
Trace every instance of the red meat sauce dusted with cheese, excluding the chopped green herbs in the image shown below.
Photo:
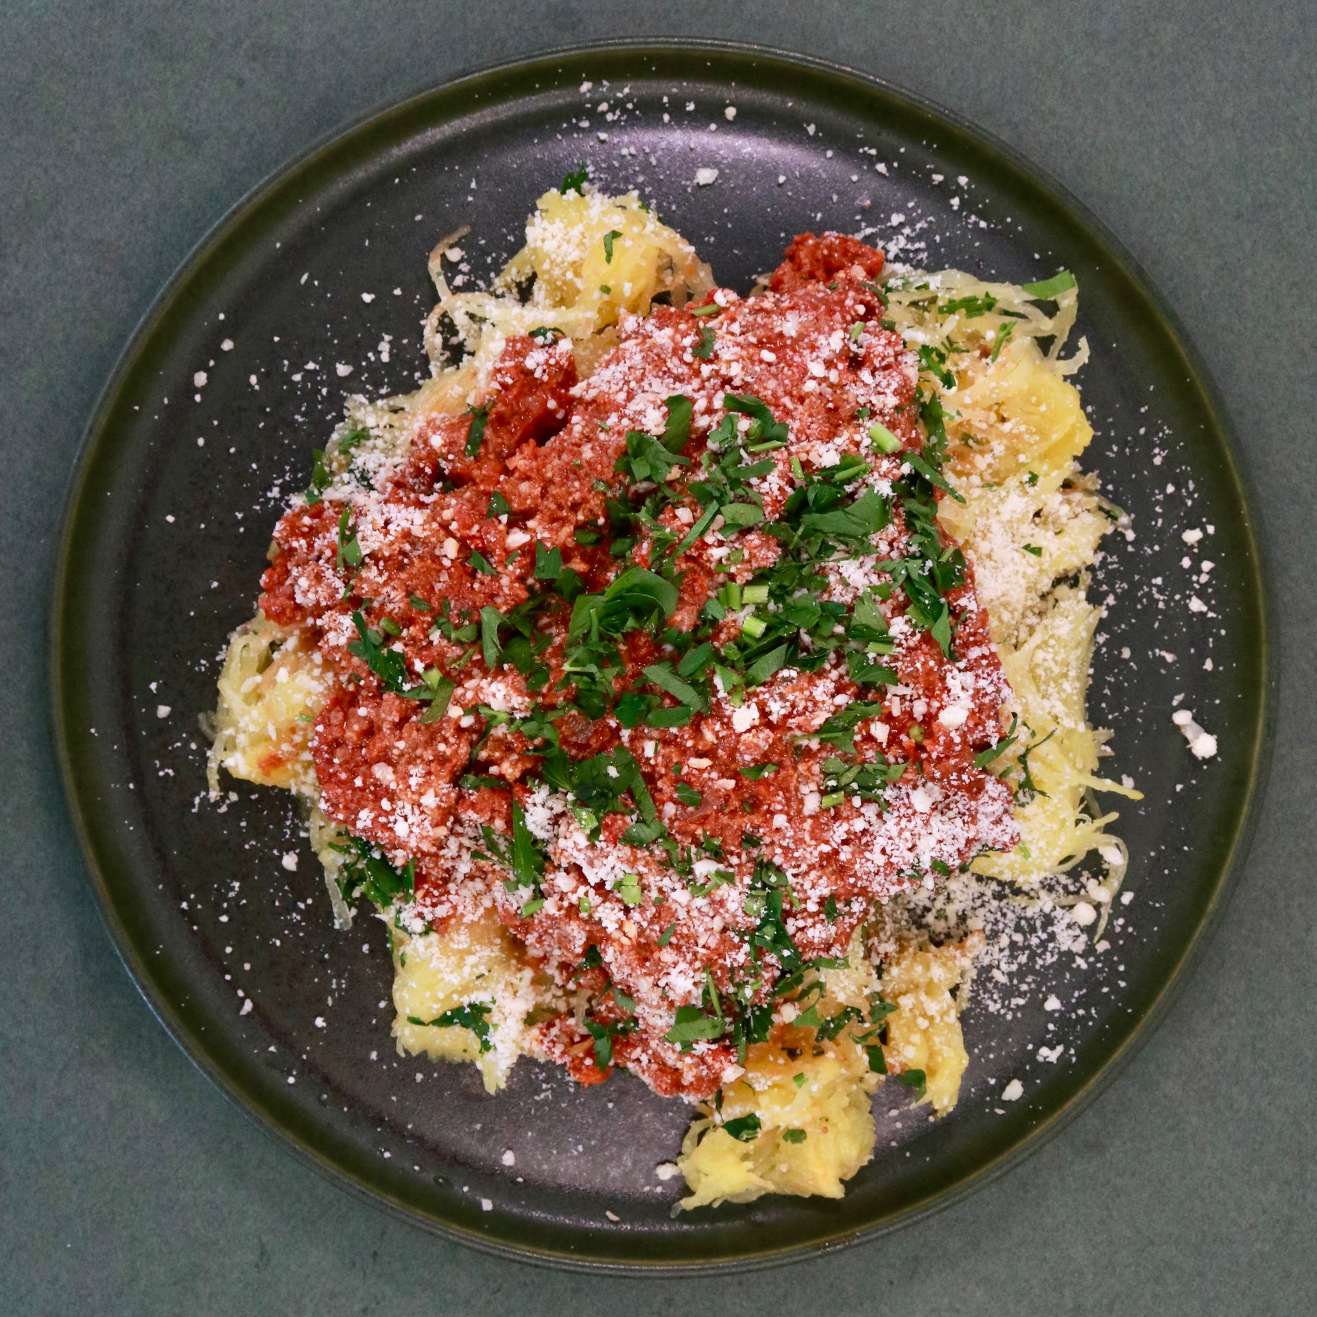
M628 431L662 431L672 395L694 406L684 450L691 466L677 470L670 486L677 491L699 470L709 433L724 415L724 392L763 399L789 425L786 446L763 454L772 457L774 470L755 482L765 523L781 512L795 485L793 458L809 473L863 452L873 465L868 479L889 491L882 482L900 477L902 454L872 448L868 427L880 421L910 450L918 450L922 435L911 406L915 365L900 336L880 325L882 304L871 281L881 266L882 253L853 238L803 234L773 273L769 292L740 299L718 290L709 302L720 309L709 316L656 307L644 319L627 319L616 346L585 381L577 379L566 340L508 340L483 394L486 424L477 456L466 454L470 415L432 416L419 423L407 454L377 479L374 491L353 494L350 520L363 551L356 576L349 579L336 566L344 504L327 498L286 512L262 578L266 616L309 628L337 678L312 741L325 813L395 864L416 861L415 911L433 927L493 905L561 982L577 988L583 973L587 986L597 984L595 1019L624 1018L605 992L610 982L620 988L636 1004L635 1022L614 1039L614 1060L661 1093L709 1097L739 1072L727 1042L697 1042L681 1051L664 1034L677 1006L702 1000L707 979L719 993L749 980L752 1000L770 996L780 967L763 950L753 957L745 940L757 922L745 913L745 898L759 861L770 860L789 874L785 923L801 956L840 957L876 901L931 882L935 863L955 868L985 847L1014 844L1009 789L975 766L975 756L1001 736L1008 687L972 574L948 595L952 658L902 618L901 590L882 605L897 640L896 653L882 661L896 668L900 685L886 687L881 716L859 726L855 749L861 760L911 764L889 789L885 807L859 797L819 807L822 763L836 749L810 741L809 734L839 707L878 698L861 693L840 661L814 673L782 669L748 691L740 710L715 698L707 714L695 714L685 727L627 730L611 715L590 720L576 710L557 719L560 744L573 759L619 745L631 751L668 834L695 848L701 864L691 880L676 873L657 847L620 840L630 815L606 815L602 835L590 844L562 801L537 785L535 743L507 727L490 730L477 711L485 705L523 716L535 706L570 702L573 687L562 669L565 602L537 614L536 626L548 637L540 661L549 670L539 690L510 666L490 672L479 641L444 639L433 630L435 616L446 601L448 618L460 626L482 607L506 612L540 593L536 541L557 548L587 590L607 586L622 568L608 553L605 506L610 494L626 497L618 495L615 464ZM861 329L852 333L855 325ZM707 357L697 356L709 329L712 348ZM857 417L861 408L868 414ZM498 511L502 506L506 512ZM681 533L701 511L687 495L661 520ZM682 630L694 626L719 586L744 583L780 552L763 529L727 527L724 536L718 525L676 564L680 602L670 624ZM602 543L578 544L581 528L602 531ZM906 533L893 500L892 523L876 536L873 556L849 573L827 569L830 597L851 602L867 581L886 579L873 564L900 557ZM738 562L728 561L732 548L741 553ZM473 565L473 552L497 574ZM630 561L647 565L648 544L635 547ZM423 723L424 703L383 689L348 652L357 637L357 608L367 623L396 624L394 648L410 674L437 668L457 682L444 718ZM738 631L730 615L711 639L723 645ZM619 649L627 668L619 693L641 686L641 669L666 653L641 630L624 635ZM665 697L664 703L676 702ZM777 765L776 772L757 780L741 772L765 764ZM500 785L464 789L457 785L464 773ZM678 788L687 801L689 790L697 792L699 803L686 803ZM507 871L479 857L486 853L481 824L508 832L514 798L548 849L544 905L529 917L520 913L527 892L508 892ZM706 892L711 871L734 881ZM639 888L639 900L624 901L614 890L623 874L633 884L631 896ZM582 971L591 948L602 969ZM606 1073L572 1015L537 1026L537 1033L540 1050L577 1079Z

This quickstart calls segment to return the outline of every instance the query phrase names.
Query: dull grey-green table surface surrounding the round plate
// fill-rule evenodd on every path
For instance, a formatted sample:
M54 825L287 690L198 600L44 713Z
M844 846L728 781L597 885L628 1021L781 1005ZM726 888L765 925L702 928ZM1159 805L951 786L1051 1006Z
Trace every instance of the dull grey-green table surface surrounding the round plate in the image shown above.
M191 245L373 105L482 63L641 34L763 41L880 74L997 133L1106 220L1191 327L1234 416L1281 639L1275 766L1247 872L1134 1065L950 1212L714 1280L494 1262L275 1147L170 1042L120 965L47 730L46 599L80 431ZM1317 581L1300 503L1317 487L1314 63L1310 0L7 4L0 1310L1317 1309Z

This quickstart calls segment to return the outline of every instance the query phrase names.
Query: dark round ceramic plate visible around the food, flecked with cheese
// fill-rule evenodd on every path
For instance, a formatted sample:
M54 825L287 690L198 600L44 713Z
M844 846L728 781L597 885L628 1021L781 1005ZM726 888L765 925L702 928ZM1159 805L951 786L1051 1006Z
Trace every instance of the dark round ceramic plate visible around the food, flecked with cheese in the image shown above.
M673 1220L677 1184L653 1168L677 1151L681 1104L624 1076L578 1090L527 1060L487 1097L469 1065L400 1060L385 928L335 932L288 798L234 784L223 810L203 799L215 657L252 611L311 446L349 389L408 389L424 369L432 244L470 224L462 246L483 274L582 161L606 188L640 187L741 288L793 233L865 225L911 263L1080 281L1089 460L1138 532L1112 536L1096 573L1112 608L1092 693L1094 720L1118 730L1112 770L1147 792L1119 823L1134 900L1109 951L1026 963L1026 1000L971 1005L951 1117L932 1125L884 1090L878 1156L843 1201ZM709 169L716 182L697 186ZM1216 568L1200 581L1204 557ZM188 1055L342 1183L465 1242L578 1266L745 1266L842 1245L1038 1147L1147 1036L1220 913L1267 741L1263 579L1226 421L1130 257L946 113L848 70L723 46L598 47L478 74L373 115L242 202L161 295L91 423L53 639L63 768L105 918ZM1218 736L1216 759L1188 753L1177 697ZM1072 1009L1050 1031L1052 992ZM1044 1042L1067 1051L1039 1059ZM1011 1077L1025 1094L1002 1102Z

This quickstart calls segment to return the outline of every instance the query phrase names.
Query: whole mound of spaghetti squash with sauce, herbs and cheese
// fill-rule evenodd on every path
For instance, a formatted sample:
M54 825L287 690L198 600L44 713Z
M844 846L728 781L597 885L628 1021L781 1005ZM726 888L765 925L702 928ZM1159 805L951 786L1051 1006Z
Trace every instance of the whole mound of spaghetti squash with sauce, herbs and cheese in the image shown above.
M942 1113L965 1067L981 935L901 894L1119 846L1073 281L806 233L741 298L568 182L491 291L436 255L432 379L316 452L212 788L304 801L338 922L392 930L400 1048L698 1102L686 1206L840 1196L882 1077Z

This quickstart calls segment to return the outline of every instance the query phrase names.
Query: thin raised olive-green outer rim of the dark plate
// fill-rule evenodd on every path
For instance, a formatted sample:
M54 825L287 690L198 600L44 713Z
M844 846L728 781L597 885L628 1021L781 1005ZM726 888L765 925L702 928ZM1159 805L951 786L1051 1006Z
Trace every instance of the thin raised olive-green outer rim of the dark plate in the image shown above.
M66 707L66 687L63 681L63 649L66 645L66 619L65 611L68 606L70 572L72 566L75 531L82 519L87 498L87 479L92 466L92 458L101 445L113 443L108 429L108 421L116 408L119 395L126 382L132 378L138 357L151 341L158 323L174 307L176 299L184 292L188 281L195 273L204 267L215 250L228 238L230 230L237 228L249 215L274 196L284 182L294 174L311 166L319 157L324 157L337 150L348 140L367 132L370 128L382 124L396 115L404 115L410 109L416 109L424 103L441 94L454 94L462 90L477 91L482 83L495 82L512 72L528 72L541 66L551 66L564 61L597 61L607 57L649 57L656 59L681 54L685 57L707 54L711 58L739 58L760 63L777 65L785 71L805 70L814 75L823 75L834 82L856 82L872 91L903 101L906 105L940 120L955 132L968 137L979 148L985 148L989 153L1000 155L1005 163L1030 179L1036 187L1047 194L1060 208L1068 212L1072 221L1077 223L1096 244L1104 249L1117 267L1130 279L1142 294L1152 311L1156 313L1166 337L1181 354L1189 379L1201 394L1205 411L1210 421L1210 428L1221 439L1221 452L1225 460L1227 478L1235 486L1239 503L1245 510L1241 533L1250 548L1250 568L1252 583L1258 591L1259 611L1262 616L1262 633L1258 639L1259 662L1258 668L1263 677L1258 695L1258 715L1252 727L1252 740L1249 747L1250 773L1247 782L1247 801L1238 814L1238 820L1230 836L1227 849L1222 851L1218 860L1218 877L1210 900L1200 911L1197 925L1192 936L1184 946L1172 968L1163 976L1162 986L1152 998L1148 1008L1130 1026L1130 1031L1106 1060L1089 1076L1089 1079L1065 1102L1056 1106L1039 1118L1039 1122L1018 1142L1005 1151L989 1158L973 1171L957 1176L954 1183L942 1189L925 1195L921 1200L886 1213L868 1226L840 1227L834 1235L824 1239L815 1239L810 1243L766 1247L747 1251L732 1258L712 1258L705 1260L670 1262L661 1258L627 1258L616 1260L607 1251L601 1250L597 1255L577 1251L564 1251L561 1249L545 1247L540 1245L512 1245L502 1239L491 1239L479 1231L465 1227L456 1221L444 1220L439 1216L423 1212L398 1198L375 1184L367 1183L363 1177L340 1166L328 1154L316 1148L287 1121L274 1114L267 1105L257 1096L242 1088L227 1071L209 1055L203 1039L184 1022L176 1011L174 1004L166 997L163 990L155 984L149 963L142 956L128 932L116 906L111 884L107 880L105 868L92 839L92 830L86 817L83 802L79 794L80 774L75 766L74 738L68 722ZM716 78L716 72L715 72ZM478 99L478 97L473 97ZM515 104L519 97L504 96L498 101L490 101L489 107ZM765 1267L781 1266L789 1262L820 1254L835 1252L839 1249L855 1243L869 1242L882 1235L892 1234L905 1226L913 1225L944 1208L951 1206L969 1195L985 1188L988 1184L1005 1175L1021 1162L1026 1160L1047 1142L1060 1134L1072 1121L1075 1121L1088 1106L1094 1102L1101 1093L1125 1071L1138 1052L1146 1046L1148 1039L1163 1023L1180 993L1184 990L1192 971L1196 968L1206 947L1218 931L1226 907L1241 881L1245 863L1256 832L1262 805L1266 798L1266 788L1270 777L1272 749L1275 743L1276 722L1276 690L1279 684L1279 647L1276 644L1276 611L1271 582L1274 579L1272 561L1268 533L1263 523L1254 512L1256 497L1254 482L1249 470L1249 461L1239 448L1235 428L1226 411L1223 399L1201 358L1193 340L1185 332L1184 325L1169 307L1158 284L1150 278L1143 266L1121 242L1121 240L1098 219L1088 205L1076 198L1064 184L1058 182L1047 170L1038 166L994 133L965 119L955 111L914 92L900 83L877 74L867 72L839 61L824 59L817 55L801 54L782 47L759 45L751 42L718 41L710 38L684 38L684 37L626 37L606 41L582 42L569 46L547 47L497 63L481 65L475 68L454 74L443 82L425 84L415 91L374 105L362 113L341 122L327 132L319 134L308 146L291 158L283 161L270 170L259 182L250 187L237 202L234 202L191 246L176 269L151 299L149 307L138 319L125 346L121 349L109 377L100 390L92 408L66 485L63 508L61 515L61 529L55 547L57 565L49 594L47 612L47 644L49 660L46 665L46 681L49 682L49 715L50 730L55 743L59 765L59 777L63 788L65 802L72 822L74 832L78 838L79 849L84 860L87 874L95 892L97 906L105 930L111 936L115 951L128 971L133 985L142 996L155 1019L161 1023L170 1038L178 1044L188 1060L211 1081L216 1088L253 1121L257 1129L266 1134L281 1147L291 1150L303 1164L311 1166L327 1180L348 1189L354 1197L371 1202L386 1209L392 1216L400 1217L412 1225L421 1226L433 1234L462 1243L482 1252L516 1262L531 1262L558 1270L589 1272L595 1275L695 1275L695 1274L735 1274L743 1271L763 1270ZM624 1238L624 1237L623 1237ZM689 1252L689 1250L687 1250Z

